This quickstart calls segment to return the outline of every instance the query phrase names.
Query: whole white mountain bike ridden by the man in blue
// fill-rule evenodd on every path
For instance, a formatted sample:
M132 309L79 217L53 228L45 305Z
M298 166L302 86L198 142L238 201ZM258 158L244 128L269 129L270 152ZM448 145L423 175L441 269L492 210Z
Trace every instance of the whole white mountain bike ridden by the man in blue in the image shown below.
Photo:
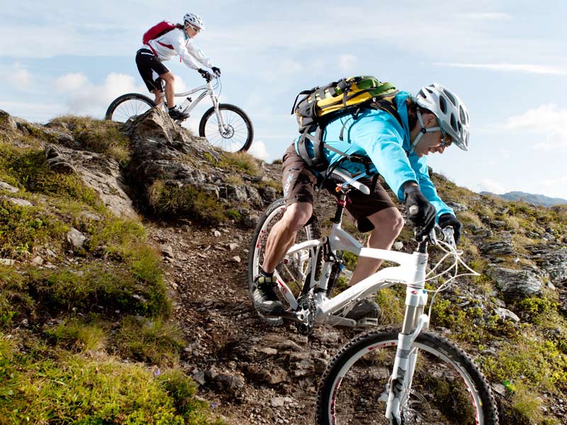
M369 188L344 169L337 168L331 178L337 182L337 212L330 236L320 238L317 221L305 226L296 244L277 266L279 295L286 305L282 317L262 318L271 324L283 319L296 322L303 334L315 323L342 327L373 327L360 334L327 365L318 391L317 420L320 425L344 424L498 424L498 414L490 385L461 348L427 328L431 304L425 312L429 292L434 297L458 276L478 274L460 259L452 228L437 239L432 231L413 254L365 248L341 228L347 192L356 188L369 194ZM254 277L264 259L266 237L279 221L285 204L272 203L260 219L252 239L249 258L249 295ZM417 233L416 233L417 234ZM427 245L439 246L446 254L426 276ZM399 264L382 268L374 275L333 296L342 266L343 251ZM445 271L435 273L446 259ZM471 273L457 275L459 263ZM426 281L454 271L437 290L425 289ZM377 319L354 321L346 317L360 300L392 285L406 285L405 315L400 328L376 328ZM418 356L419 354L419 356Z

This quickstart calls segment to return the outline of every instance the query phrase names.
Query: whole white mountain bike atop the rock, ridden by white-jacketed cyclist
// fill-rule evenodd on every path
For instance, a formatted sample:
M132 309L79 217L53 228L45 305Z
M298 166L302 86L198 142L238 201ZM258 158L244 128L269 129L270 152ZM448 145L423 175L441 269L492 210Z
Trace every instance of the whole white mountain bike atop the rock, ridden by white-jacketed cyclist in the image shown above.
M199 136L206 137L208 142L223 149L226 152L246 152L252 139L254 139L254 128L252 121L238 106L230 103L218 103L222 86L219 77L208 79L206 84L195 89L176 93L176 98L184 98L181 102L181 111L191 113L193 108L208 95L213 103L201 118L199 123ZM218 91L218 94L215 94ZM196 94L193 100L190 96ZM162 92L162 98L165 94ZM154 101L147 96L139 93L128 93L114 99L106 110L106 119L125 123L130 118L145 113L148 109L155 106ZM167 109L162 103L164 111ZM181 125L184 120L176 120Z

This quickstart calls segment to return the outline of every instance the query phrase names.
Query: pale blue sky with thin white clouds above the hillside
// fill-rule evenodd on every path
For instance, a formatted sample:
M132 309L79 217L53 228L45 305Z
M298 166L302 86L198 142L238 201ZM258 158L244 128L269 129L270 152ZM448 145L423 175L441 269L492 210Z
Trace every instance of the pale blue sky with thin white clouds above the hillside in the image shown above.
M205 23L195 44L223 73L220 101L252 119L256 157L281 158L296 137L290 112L303 89L374 75L415 94L436 81L466 103L471 140L468 152L430 154L435 172L473 191L567 199L561 0L0 0L0 109L36 123L103 118L120 94L147 94L135 65L142 34L189 11ZM176 91L203 84L179 60L166 64ZM185 125L196 131L209 106Z

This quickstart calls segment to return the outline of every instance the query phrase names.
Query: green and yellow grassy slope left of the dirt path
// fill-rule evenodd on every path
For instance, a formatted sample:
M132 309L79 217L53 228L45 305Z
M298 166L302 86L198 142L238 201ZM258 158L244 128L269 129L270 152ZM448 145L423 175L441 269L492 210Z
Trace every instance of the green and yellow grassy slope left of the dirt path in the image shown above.
M112 123L61 120L96 126L97 149L124 159ZM179 366L186 342L145 227L5 124L0 181L18 191L0 191L0 424L220 424Z

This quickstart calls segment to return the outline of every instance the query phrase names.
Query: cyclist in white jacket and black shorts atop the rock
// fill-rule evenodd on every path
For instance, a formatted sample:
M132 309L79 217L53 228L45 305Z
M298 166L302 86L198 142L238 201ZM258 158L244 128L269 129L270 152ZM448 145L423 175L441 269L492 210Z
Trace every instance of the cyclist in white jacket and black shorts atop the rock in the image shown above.
M217 77L220 76L220 69L213 66L210 59L193 43L193 38L204 28L201 17L195 13L186 13L183 21L183 25L178 23L175 28L149 40L136 53L137 69L147 89L154 94L156 105L162 103L162 81L165 82L167 108L169 116L174 120L184 120L189 114L175 107L175 77L162 62L179 56L187 67L196 69L207 81L212 75L203 69L203 65L210 68Z

